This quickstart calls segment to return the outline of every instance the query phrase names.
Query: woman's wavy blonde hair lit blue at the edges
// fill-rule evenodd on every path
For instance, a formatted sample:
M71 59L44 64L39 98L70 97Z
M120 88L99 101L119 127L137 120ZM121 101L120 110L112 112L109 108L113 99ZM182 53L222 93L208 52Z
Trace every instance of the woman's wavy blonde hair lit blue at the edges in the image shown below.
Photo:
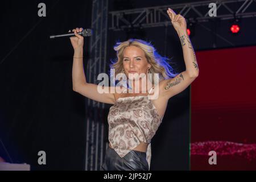
M112 60L110 69L115 69L115 75L122 73L123 70L123 51L126 47L136 46L141 48L145 54L148 63L151 65L150 73L159 73L159 80L166 80L168 78L175 77L177 73L174 73L174 69L169 65L166 57L162 57L156 52L154 46L141 39L129 39L125 42L117 42L114 46L114 50L117 51L117 59Z

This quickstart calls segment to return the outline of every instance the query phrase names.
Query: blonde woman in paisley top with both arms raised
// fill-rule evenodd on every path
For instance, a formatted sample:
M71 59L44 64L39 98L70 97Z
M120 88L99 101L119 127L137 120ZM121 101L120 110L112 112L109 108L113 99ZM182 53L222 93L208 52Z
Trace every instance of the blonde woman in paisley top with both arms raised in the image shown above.
M115 87L115 93L110 92L112 86L106 88L108 93L98 93L97 85L86 82L82 63L84 40L77 34L82 28L72 30L76 35L71 38L75 50L72 68L73 90L92 100L113 104L108 115L110 143L102 170L149 170L150 141L162 122L169 98L187 88L199 75L184 17L176 15L171 9L167 10L167 14L179 35L186 70L173 75L168 70L170 66L166 59L143 40L130 39L117 43L114 49L118 59L111 67L115 69L115 73L124 73L131 85L130 88ZM138 75L147 73L158 73L160 81L146 79L146 86L143 85L143 77ZM150 88L148 85L153 86ZM152 94L156 94L154 100L149 99Z

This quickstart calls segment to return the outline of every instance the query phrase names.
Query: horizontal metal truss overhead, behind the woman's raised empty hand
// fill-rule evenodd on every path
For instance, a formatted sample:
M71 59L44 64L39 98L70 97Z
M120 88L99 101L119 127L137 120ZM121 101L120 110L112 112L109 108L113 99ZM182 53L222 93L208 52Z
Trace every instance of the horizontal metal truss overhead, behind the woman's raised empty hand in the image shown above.
M216 3L217 16L208 15L209 3ZM166 6L143 7L140 9L110 11L111 26L109 30L123 30L130 27L159 27L171 26L170 18L166 13L168 7L177 13L192 17L187 20L196 22L208 22L209 19L220 20L236 18L249 18L256 16L255 0L226 0L226 1L199 1L192 3L181 3Z

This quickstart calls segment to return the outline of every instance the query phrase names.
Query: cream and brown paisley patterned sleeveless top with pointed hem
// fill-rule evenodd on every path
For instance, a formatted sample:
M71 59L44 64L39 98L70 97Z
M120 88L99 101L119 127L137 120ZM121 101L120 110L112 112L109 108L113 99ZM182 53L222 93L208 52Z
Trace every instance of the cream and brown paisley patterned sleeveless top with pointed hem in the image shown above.
M149 96L120 97L108 114L109 142L121 158L141 142L148 143L147 163L151 161L151 139L162 119Z

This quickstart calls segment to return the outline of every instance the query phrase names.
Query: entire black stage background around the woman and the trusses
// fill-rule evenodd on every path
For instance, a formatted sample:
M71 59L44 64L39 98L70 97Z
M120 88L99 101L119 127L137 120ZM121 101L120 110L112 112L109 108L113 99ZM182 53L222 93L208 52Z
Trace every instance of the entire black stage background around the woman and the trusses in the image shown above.
M38 16L38 4L47 16ZM109 11L192 1L109 1ZM5 1L1 5L0 137L13 163L31 164L32 170L83 170L85 163L85 98L72 90L73 48L69 39L49 35L74 27L90 27L92 1ZM186 17L185 17L186 18ZM208 22L233 46L212 32L195 27L191 41L196 50L255 44L255 24L243 20L242 35L229 33L229 20ZM127 38L151 41L160 55L171 57L176 72L184 71L182 50L173 27L144 32L108 31L108 59L114 43ZM167 40L166 50L164 40ZM89 57L85 39L84 63ZM200 64L199 64L200 66ZM189 88L169 101L163 124L152 140L151 169L189 169ZM102 114L106 116L108 109ZM107 121L106 121L107 122ZM1 148L1 156L11 162ZM46 151L47 165L38 165L38 151Z

